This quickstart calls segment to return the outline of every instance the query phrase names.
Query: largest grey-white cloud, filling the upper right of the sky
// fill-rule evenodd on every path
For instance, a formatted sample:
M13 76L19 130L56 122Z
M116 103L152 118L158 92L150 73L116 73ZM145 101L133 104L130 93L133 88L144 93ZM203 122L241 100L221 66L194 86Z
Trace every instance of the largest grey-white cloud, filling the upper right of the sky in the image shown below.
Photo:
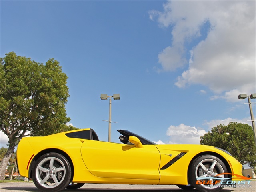
M163 70L188 65L176 86L208 86L212 99L238 101L239 93L256 91L256 27L254 1L168 1L164 10L151 11L162 27L172 26L172 45L158 55ZM192 50L185 44L199 37L208 22L204 40ZM184 50L190 52L186 61Z

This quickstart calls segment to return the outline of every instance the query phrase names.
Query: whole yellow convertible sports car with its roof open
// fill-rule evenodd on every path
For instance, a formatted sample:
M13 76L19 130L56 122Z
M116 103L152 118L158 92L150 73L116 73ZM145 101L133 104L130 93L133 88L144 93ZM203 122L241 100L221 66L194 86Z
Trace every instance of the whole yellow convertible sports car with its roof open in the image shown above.
M80 129L22 138L17 148L21 176L44 192L76 189L84 183L177 185L202 192L235 184L242 165L220 148L157 145L127 130L122 143L104 142L94 130Z

